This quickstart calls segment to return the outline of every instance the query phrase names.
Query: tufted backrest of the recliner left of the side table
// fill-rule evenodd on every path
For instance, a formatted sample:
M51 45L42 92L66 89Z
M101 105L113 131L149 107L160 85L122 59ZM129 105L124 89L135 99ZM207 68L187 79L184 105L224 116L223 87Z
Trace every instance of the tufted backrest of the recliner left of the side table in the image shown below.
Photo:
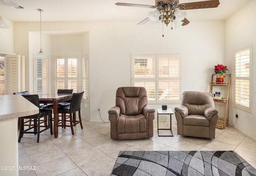
M120 87L116 90L116 106L121 114L136 116L143 113L148 104L147 92L144 87Z

